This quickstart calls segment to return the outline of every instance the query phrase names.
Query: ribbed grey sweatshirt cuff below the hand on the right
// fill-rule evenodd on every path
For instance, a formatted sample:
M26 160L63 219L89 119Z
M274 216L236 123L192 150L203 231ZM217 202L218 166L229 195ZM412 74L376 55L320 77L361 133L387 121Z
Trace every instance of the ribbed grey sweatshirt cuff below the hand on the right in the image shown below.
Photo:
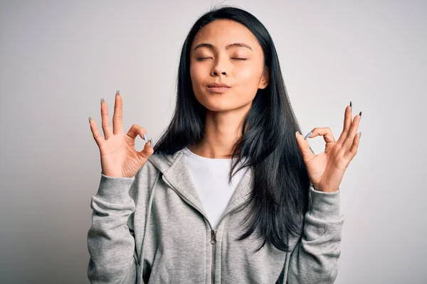
M341 187L335 192L317 191L311 185L311 214L319 219L331 219L341 217L339 212L339 194Z

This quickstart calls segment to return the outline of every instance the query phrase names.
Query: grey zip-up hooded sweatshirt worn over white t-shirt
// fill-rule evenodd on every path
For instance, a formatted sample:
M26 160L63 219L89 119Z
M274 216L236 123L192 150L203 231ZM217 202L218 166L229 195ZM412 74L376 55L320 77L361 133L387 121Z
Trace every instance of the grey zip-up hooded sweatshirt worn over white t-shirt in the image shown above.
M90 200L90 283L334 283L344 216L339 193L310 187L310 209L291 251L263 246L241 209L253 187L247 168L216 227L206 218L182 150L152 155L133 178L101 173Z

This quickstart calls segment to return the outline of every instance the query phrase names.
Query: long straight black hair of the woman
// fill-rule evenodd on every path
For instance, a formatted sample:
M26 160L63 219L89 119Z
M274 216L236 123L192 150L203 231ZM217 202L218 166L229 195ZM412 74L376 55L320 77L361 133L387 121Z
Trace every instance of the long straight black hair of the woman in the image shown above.
M267 243L288 251L290 236L301 232L302 217L308 209L310 180L295 137L300 126L289 102L273 40L265 26L251 13L237 7L222 6L205 13L191 27L179 60L174 115L154 146L154 153L174 154L203 138L206 108L196 100L192 89L190 49L200 28L218 19L229 19L246 26L258 39L265 67L270 70L268 87L258 89L255 94L252 107L243 120L242 136L233 147L236 162L229 178L243 157L245 162L236 172L251 167L254 174L248 202L253 204L253 209L246 217L250 223L238 241L256 232L264 239L258 250Z

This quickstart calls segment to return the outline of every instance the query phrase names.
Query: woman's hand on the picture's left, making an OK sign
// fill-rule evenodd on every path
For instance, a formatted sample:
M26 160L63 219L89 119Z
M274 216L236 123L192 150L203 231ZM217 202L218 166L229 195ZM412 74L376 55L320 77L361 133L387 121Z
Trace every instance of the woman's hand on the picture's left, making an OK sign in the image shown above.
M89 117L90 130L100 148L102 174L115 178L134 177L154 153L152 139L148 141L145 129L137 124L133 124L127 134L123 132L122 97L119 91L115 96L112 129L108 117L108 106L104 99L101 99L101 119L105 138L102 138L95 121ZM145 140L144 149L140 152L135 150L137 136Z

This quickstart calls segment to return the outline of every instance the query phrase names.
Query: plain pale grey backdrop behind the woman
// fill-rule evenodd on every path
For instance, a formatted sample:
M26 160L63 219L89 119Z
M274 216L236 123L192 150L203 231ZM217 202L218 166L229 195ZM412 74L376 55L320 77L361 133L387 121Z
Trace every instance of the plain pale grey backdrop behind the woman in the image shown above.
M426 1L1 1L0 283L88 283L100 99L158 141L181 45L217 4L268 28L302 134L362 111L335 283L426 283ZM137 149L142 149L137 138ZM324 151L322 137L310 140Z

